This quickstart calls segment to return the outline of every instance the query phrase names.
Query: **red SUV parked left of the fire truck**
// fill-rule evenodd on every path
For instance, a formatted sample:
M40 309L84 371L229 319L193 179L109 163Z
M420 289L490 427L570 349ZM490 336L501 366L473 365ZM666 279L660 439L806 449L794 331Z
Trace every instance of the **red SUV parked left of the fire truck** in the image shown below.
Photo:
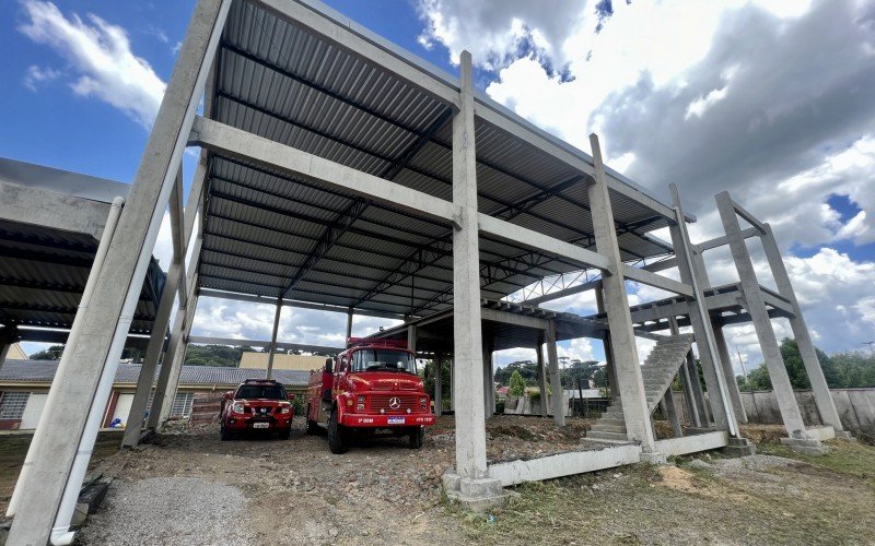
M249 430L277 432L288 440L292 430L294 394L272 379L247 379L236 391L228 391L219 412L222 441Z

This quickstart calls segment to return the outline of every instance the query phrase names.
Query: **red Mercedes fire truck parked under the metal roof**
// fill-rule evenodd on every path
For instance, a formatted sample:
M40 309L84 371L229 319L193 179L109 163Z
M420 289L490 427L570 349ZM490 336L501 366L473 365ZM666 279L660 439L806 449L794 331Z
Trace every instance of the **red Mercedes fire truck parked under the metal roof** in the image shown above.
M306 415L307 434L328 429L331 453L345 453L357 435L375 432L406 436L419 449L424 427L434 425L416 355L392 340L350 337L336 360L311 372Z

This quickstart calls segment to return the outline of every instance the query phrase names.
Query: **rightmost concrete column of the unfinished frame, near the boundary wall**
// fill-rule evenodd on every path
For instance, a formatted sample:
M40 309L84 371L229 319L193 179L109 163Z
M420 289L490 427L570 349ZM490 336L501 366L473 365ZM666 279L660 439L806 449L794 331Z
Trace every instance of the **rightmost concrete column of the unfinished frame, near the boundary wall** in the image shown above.
M796 345L800 347L802 363L805 365L805 372L808 376L808 381L812 383L814 402L817 405L817 411L820 413L820 419L824 422L824 425L831 426L837 432L842 431L844 427L841 424L839 412L836 410L836 403L829 392L829 385L824 377L820 359L817 358L817 351L815 351L814 343L812 343L812 335L808 333L808 327L805 324L805 319L802 316L802 308L796 299L796 292L790 283L790 275L788 275L784 260L781 258L778 241L774 239L771 226L765 224L763 227L766 228L766 233L761 237L762 248L766 250L769 268L778 285L778 293L793 306L793 317L790 319L790 328L793 330L793 337L796 340Z

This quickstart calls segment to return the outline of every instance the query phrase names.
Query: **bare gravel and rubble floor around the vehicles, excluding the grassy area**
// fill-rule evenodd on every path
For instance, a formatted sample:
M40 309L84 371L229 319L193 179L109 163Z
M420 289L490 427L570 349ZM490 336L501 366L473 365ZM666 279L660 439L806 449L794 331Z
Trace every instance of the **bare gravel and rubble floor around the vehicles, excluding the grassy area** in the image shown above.
M491 460L583 449L588 424L495 416ZM429 429L421 450L406 440L361 440L343 455L295 419L290 440L223 442L218 425L162 435L120 452L126 467L81 543L96 544L446 544L462 522L441 507L440 478L455 455L452 417ZM148 515L142 515L148 514ZM129 542L125 542L129 541Z

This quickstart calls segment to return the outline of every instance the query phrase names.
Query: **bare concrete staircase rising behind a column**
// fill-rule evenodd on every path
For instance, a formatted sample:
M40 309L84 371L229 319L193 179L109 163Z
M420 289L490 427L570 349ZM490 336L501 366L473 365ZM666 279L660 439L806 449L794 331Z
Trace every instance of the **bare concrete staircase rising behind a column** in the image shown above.
M644 379L644 394L648 399L648 411L653 412L660 404L665 391L672 385L677 370L690 351L693 337L691 334L679 334L656 342L656 346L648 355L641 367ZM608 410L596 419L586 432L592 440L627 441L626 419L622 414L622 400L618 396Z

